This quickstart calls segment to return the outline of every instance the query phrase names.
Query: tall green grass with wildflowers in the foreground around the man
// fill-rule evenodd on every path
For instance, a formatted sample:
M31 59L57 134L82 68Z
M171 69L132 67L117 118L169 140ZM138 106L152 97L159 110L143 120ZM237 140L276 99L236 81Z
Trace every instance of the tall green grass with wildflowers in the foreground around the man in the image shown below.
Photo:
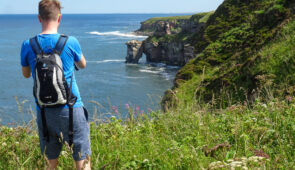
M106 123L92 122L92 167L230 169L232 161L250 169L295 166L293 98L288 102L257 100L252 107L239 104L221 110L197 103L181 108L145 115L130 110L128 120L113 117ZM44 168L46 159L40 155L37 133L30 127L0 128L0 169ZM210 150L215 146L219 149ZM265 158L252 160L255 155ZM71 154L64 149L59 169L72 168Z

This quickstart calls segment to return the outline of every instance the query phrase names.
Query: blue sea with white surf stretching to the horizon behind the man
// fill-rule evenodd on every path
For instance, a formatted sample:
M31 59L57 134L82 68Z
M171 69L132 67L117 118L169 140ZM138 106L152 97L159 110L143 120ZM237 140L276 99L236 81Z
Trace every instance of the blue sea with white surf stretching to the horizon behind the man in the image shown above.
M151 17L181 14L97 14L62 16L59 33L75 36L87 60L87 68L76 72L77 83L90 117L104 118L118 108L126 116L125 105L139 112L160 109L164 92L171 88L179 68L164 64L125 64L132 31ZM0 15L0 124L27 123L35 113L33 79L22 77L20 49L25 39L41 32L37 15ZM97 102L95 104L95 102ZM17 104L19 103L19 104ZM99 104L98 104L99 103Z

